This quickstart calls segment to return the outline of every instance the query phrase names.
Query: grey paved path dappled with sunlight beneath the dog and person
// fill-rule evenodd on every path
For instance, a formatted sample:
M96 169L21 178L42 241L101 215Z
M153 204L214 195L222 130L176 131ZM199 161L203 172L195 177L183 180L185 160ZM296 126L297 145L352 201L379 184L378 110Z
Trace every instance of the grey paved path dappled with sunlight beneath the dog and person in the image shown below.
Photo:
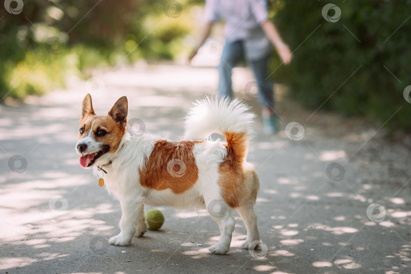
M214 94L217 84L214 69L178 66L97 77L105 83L104 89L92 85L97 114L126 95L129 118L173 139L182 134L190 104ZM241 88L251 80L247 71L235 72L236 89L243 90L238 96L259 113ZM119 232L119 203L74 153L87 88L78 82L19 106L0 106L0 273L411 271L409 150L376 142L378 127L350 133L349 121L341 119L339 125L319 126L329 116L316 113L306 120L312 112L299 111L287 98L279 103L282 128L300 123L302 139L291 140L285 131L264 136L258 120L250 145L249 161L261 182L255 210L264 256L239 248L246 230L236 214L231 251L217 256L207 250L219 234L207 212L162 207L166 220L160 231L134 238L130 247L109 246L109 237ZM299 133L291 131L294 139ZM14 155L22 156L23 167ZM385 209L382 222L367 216L373 203Z

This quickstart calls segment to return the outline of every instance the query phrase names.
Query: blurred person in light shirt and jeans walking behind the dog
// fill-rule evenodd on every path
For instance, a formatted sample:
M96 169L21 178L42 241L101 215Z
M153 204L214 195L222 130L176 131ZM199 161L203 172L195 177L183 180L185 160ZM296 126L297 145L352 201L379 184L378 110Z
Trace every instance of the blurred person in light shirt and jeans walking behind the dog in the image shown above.
M275 25L268 20L265 0L205 0L205 24L199 43L189 56L189 63L210 36L219 19L225 21L225 45L221 55L218 96L232 97L232 68L245 55L258 86L263 106L263 130L274 134L279 130L278 115L274 111L273 83L268 79L267 62L271 43L284 64L289 64L292 53L281 39Z

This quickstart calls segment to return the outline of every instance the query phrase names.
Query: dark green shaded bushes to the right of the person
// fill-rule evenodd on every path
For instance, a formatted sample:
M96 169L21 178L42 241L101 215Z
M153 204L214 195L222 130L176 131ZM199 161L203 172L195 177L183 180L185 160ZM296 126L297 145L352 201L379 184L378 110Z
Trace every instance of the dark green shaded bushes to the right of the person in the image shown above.
M322 105L320 109L379 118L381 123L403 106L387 125L411 130L411 104L403 97L411 84L411 2L334 1L341 10L336 22L323 18L327 2L271 2L282 7L275 24L295 50L290 66L273 75L288 82L299 100L314 109Z

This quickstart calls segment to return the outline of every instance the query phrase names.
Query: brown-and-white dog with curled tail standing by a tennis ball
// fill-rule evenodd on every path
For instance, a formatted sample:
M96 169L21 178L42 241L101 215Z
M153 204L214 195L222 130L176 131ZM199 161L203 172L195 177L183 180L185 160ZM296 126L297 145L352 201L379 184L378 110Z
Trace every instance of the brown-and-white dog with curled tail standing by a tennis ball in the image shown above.
M259 242L254 205L259 180L246 161L255 115L240 100L197 100L185 118L183 140L173 142L127 125L128 101L121 97L107 115L96 115L88 94L82 104L76 151L83 168L104 175L107 190L120 201L121 232L111 237L115 246L128 246L133 236L147 230L144 205L207 208L221 236L209 250L230 250L236 209L247 228L242 244ZM213 141L212 133L226 140ZM103 173L104 172L104 173Z

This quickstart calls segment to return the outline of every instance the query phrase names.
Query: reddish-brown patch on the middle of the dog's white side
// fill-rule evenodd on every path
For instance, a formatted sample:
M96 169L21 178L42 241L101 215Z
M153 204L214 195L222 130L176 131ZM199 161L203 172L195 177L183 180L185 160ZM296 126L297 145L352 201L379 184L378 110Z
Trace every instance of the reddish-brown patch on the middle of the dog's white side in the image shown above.
M192 151L198 142L156 141L145 167L139 169L140 184L155 190L170 189L176 194L191 189L198 179Z

